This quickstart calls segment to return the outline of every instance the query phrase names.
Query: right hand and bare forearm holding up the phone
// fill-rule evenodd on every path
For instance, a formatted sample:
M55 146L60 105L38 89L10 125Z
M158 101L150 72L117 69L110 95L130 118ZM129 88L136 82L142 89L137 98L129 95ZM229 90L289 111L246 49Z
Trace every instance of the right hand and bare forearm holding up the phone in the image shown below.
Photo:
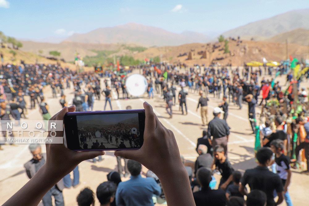
M116 156L133 159L153 171L162 184L168 205L195 205L188 173L180 158L173 132L158 120L150 104L144 102L144 143L138 150L116 151Z

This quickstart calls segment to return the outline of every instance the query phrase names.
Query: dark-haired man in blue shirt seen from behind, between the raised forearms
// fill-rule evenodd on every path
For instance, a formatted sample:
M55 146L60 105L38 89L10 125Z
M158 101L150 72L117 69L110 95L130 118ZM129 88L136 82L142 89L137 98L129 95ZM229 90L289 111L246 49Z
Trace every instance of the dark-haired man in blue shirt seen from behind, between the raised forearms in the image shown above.
M116 205L154 205L152 195L160 195L161 188L153 178L142 178L142 164L128 161L131 179L121 182L116 191Z

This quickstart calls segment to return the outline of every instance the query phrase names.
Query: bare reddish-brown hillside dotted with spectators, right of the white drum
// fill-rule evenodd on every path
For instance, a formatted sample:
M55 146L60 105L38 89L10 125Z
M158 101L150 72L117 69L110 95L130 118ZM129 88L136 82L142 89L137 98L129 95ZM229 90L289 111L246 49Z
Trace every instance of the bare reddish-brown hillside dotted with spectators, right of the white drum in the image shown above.
M281 61L286 59L285 44L264 42L264 41L248 41L243 40L237 44L236 41L230 40L230 53L224 53L224 42L208 43L208 44L184 44L180 46L155 47L148 48L144 52L133 55L134 58L144 59L159 56L161 61L170 63L182 62L187 65L205 64L209 65L211 61L218 62L221 65L232 63L234 66L243 65L243 62L262 61L263 57L271 61ZM214 48L217 47L217 48ZM297 44L289 44L289 55L301 58L304 53L307 53L308 47ZM192 52L192 60L186 60L188 53ZM201 59L200 52L206 51L206 58ZM179 54L186 55L177 57ZM222 60L218 60L221 59Z

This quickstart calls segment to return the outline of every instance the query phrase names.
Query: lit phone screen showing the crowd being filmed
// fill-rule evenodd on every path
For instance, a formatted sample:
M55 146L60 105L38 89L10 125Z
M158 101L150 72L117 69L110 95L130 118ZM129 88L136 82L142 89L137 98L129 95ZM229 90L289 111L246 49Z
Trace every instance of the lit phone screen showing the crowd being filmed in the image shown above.
M141 147L138 113L76 116L80 149Z

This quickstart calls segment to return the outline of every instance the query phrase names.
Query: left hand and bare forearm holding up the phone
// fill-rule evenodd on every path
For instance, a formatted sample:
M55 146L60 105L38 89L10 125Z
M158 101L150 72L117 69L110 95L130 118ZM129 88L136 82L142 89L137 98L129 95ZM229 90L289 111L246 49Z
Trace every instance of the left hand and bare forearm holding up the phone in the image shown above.
M68 111L75 111L75 106L63 109L54 115L53 120L63 120ZM57 134L58 136L58 134ZM58 137L63 137L63 131ZM49 135L50 138L53 138ZM75 152L64 144L46 144L46 163L39 171L3 205L38 205L47 191L66 174L70 173L80 162L103 155L103 151Z

